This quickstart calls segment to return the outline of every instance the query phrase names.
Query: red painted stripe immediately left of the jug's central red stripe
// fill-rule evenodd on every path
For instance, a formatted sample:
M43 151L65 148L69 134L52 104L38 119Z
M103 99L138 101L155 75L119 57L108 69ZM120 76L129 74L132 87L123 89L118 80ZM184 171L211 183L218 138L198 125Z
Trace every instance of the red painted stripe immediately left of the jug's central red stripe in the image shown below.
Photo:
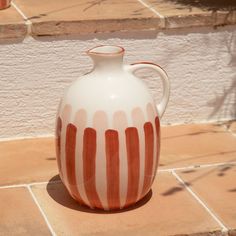
M96 130L86 128L83 138L84 187L92 207L103 208L96 190Z

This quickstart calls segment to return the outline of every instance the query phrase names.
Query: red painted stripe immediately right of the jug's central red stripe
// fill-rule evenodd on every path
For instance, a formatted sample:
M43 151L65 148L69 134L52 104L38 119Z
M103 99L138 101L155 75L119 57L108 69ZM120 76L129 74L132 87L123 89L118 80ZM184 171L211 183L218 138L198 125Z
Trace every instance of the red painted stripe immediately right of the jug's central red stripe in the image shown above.
M128 191L125 206L137 201L139 187L139 137L134 127L125 130L126 151L128 159Z

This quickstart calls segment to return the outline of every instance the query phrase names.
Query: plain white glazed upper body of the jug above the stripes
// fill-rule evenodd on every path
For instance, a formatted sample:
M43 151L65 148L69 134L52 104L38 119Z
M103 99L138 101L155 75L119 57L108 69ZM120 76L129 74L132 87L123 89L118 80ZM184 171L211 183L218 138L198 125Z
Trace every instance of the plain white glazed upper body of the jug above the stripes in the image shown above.
M112 46L107 47L113 50ZM145 83L130 72L130 65L123 65L123 51L107 57L88 53L93 62L93 70L74 81L66 90L61 108L70 104L71 117L80 109L87 111L87 126L92 127L96 111L104 111L108 117L108 128L112 128L112 117L117 111L127 114L128 125L132 126L131 114L135 108L145 111L148 103L156 107ZM102 53L101 53L102 54ZM60 115L61 110L59 110ZM157 111L156 111L157 112ZM157 112L158 113L158 112ZM144 112L145 121L148 120Z

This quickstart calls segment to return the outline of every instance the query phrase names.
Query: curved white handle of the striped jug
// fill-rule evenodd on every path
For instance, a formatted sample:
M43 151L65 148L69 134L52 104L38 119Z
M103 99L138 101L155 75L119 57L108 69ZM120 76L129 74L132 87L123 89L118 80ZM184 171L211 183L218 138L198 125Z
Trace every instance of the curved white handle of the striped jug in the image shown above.
M166 106L168 104L169 97L170 97L169 78L168 78L166 72L159 65L151 63L151 62L136 62L136 63L133 63L133 64L127 66L127 70L130 71L131 73L135 73L139 69L154 70L161 77L164 91L163 91L163 95L161 98L161 102L156 105L159 117L161 118L166 110Z

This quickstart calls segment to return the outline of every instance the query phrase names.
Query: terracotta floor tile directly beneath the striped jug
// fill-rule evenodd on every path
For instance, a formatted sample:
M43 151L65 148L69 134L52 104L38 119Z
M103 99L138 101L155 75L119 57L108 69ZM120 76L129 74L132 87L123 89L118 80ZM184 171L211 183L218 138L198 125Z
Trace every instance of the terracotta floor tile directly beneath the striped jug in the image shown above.
M37 185L33 192L58 235L188 235L219 230L169 173L158 175L152 196L119 213L96 213L79 206L61 183Z

